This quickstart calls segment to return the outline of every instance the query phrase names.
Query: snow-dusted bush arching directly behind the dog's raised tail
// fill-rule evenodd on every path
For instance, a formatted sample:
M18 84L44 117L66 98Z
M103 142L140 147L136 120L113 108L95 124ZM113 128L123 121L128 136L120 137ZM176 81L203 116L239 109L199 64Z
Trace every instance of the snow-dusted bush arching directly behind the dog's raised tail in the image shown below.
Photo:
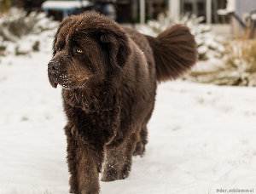
M181 20L172 20L161 14L158 20L148 21L147 26L138 26L137 29L151 36L157 36L161 31L174 24L188 26L198 45L199 60L208 60L221 57L224 53L224 45L221 37L212 33L210 26L201 24L203 17L185 15Z

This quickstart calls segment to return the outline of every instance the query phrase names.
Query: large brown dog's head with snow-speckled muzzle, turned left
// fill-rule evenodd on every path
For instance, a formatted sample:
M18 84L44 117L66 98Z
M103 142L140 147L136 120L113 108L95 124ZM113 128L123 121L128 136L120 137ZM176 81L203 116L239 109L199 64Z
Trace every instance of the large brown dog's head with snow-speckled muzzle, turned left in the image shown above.
M66 89L102 83L122 70L129 54L128 37L114 21L93 12L71 16L55 35L49 83Z

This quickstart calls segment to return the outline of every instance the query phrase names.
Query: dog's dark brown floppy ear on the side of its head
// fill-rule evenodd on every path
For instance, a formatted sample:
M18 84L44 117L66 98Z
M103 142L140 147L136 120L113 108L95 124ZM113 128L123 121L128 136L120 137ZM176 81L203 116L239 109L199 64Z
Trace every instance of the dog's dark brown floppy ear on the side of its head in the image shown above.
M108 60L111 66L123 67L131 54L131 48L128 37L125 33L102 32L98 37L102 48L108 54Z

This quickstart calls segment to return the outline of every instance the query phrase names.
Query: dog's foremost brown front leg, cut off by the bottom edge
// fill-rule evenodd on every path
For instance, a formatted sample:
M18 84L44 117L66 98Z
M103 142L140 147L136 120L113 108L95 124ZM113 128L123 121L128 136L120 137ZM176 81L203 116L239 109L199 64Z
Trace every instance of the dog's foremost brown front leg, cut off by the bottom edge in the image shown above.
M83 137L69 128L67 134L67 162L70 177L70 192L75 194L98 194L99 171L103 151L89 145Z

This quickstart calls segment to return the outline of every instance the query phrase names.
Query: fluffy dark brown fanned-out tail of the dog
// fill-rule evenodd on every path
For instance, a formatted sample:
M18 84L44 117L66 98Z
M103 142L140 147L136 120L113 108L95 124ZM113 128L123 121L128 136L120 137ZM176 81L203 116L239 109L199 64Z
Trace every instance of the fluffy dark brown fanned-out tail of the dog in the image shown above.
M175 79L195 64L196 43L188 27L176 25L158 37L146 37L154 52L157 81Z

